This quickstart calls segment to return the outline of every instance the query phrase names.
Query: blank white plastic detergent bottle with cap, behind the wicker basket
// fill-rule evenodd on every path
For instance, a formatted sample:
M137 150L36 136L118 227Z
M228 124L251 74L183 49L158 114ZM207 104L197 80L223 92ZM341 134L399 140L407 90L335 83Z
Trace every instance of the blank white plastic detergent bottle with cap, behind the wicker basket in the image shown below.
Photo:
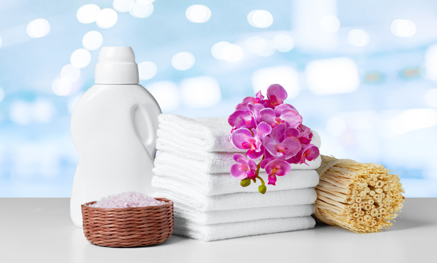
M82 227L83 203L130 190L152 194L151 170L161 110L138 82L132 48L101 48L96 84L83 94L71 116L79 162L70 215L77 227Z

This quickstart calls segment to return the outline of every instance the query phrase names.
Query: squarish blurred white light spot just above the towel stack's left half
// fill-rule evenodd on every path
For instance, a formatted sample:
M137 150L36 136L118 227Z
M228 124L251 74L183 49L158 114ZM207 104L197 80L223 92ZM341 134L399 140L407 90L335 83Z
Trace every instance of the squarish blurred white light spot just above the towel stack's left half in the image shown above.
M212 107L221 101L220 87L212 77L186 78L180 82L180 88L182 100L189 107Z

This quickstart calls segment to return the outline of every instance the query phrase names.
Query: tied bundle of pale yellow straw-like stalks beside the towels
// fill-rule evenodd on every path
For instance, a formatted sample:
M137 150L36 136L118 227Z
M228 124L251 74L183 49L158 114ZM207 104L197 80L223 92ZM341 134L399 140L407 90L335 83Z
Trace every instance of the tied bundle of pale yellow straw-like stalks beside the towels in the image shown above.
M392 226L404 196L397 174L382 165L322 155L317 170L315 215L329 225L355 233L378 232Z

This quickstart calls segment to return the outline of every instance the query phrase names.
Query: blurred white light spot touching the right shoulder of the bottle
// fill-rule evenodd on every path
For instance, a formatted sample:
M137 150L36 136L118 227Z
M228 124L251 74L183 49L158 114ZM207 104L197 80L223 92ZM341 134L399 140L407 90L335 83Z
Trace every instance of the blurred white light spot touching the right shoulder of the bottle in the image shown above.
M146 89L153 95L161 110L172 111L180 105L180 91L178 85L171 81L161 81L148 84Z

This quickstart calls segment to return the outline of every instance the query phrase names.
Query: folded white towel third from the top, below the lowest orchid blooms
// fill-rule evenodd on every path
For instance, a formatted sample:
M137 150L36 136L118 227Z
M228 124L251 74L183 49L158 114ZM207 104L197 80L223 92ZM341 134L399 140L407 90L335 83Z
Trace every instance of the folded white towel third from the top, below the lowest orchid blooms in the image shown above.
M251 183L242 187L240 180L228 173L205 174L198 171L189 171L169 163L157 165L153 168L152 186L173 191L198 192L206 196L218 194L232 194L235 192L258 192L261 184ZM260 172L259 176L267 182L266 172ZM316 170L291 170L289 174L277 176L276 185L267 185L267 192L277 190L291 190L311 188L318 185L318 173Z

